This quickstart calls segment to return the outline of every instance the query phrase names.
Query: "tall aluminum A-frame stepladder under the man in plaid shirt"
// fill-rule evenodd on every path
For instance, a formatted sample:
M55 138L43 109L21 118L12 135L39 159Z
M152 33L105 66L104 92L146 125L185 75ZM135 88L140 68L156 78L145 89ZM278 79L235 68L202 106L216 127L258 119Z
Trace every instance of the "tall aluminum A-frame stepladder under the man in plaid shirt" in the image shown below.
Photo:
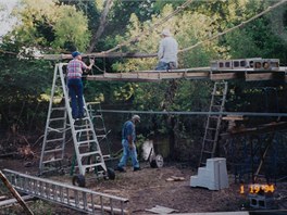
M39 164L40 174L47 165L59 167L64 161L67 131L72 135L75 159L79 175L73 178L73 184L85 186L85 173L93 168L95 173L109 174L96 136L90 115L84 99L85 117L74 119L70 106L68 92L65 84L63 66L57 64L51 89L51 98L42 142ZM57 102L59 104L57 104ZM88 163L86 163L88 162ZM86 164L85 164L86 163ZM114 174L114 173L113 173Z

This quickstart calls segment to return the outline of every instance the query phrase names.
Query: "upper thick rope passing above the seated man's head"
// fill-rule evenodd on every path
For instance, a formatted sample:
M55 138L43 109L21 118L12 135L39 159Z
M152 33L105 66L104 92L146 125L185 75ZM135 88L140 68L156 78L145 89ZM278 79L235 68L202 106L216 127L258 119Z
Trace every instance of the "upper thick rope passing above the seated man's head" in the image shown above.
M180 7L178 7L174 12L172 12L171 14L166 15L165 17L163 17L162 20L160 20L158 23L155 23L152 27L150 27L147 30L141 31L140 34L138 34L137 36L130 38L127 41L124 41L120 45L117 45L116 47L109 49L107 51L103 51L103 53L110 53L112 51L115 51L126 45L129 45L133 41L137 41L140 37L142 37L144 35L146 35L147 33L150 33L151 30L153 30L155 27L162 25L163 23L165 23L166 21L169 21L171 17L173 17L175 14L179 13L180 11L183 11L185 8L187 8L194 0L187 0L185 3L183 3Z

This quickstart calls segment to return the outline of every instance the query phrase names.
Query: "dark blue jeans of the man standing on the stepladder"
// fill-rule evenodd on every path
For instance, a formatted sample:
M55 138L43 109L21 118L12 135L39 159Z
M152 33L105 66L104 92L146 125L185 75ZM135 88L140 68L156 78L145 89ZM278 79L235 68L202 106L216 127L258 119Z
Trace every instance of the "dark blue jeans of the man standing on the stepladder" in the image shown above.
M84 116L83 83L80 78L67 80L68 93L72 100L73 118Z

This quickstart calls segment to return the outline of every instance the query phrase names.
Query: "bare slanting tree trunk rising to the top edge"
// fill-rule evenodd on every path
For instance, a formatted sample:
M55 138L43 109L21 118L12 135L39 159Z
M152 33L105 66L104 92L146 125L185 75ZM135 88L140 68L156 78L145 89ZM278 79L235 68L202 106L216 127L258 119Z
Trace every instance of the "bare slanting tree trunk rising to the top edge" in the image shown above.
M108 16L108 13L112 7L112 3L113 3L113 0L107 0L105 1L105 5L104 5L104 9L103 9L101 17L100 17L100 25L99 25L98 30L92 35L90 46L87 50L88 53L92 52L95 46L98 42L98 39L101 37L101 35L104 30L104 27L107 25L107 16Z

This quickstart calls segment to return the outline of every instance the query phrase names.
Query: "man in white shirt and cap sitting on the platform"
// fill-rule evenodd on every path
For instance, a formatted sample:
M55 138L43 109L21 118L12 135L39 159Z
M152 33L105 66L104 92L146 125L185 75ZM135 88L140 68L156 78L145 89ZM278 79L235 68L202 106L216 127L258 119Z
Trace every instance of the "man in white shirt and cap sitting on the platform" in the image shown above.
M158 58L159 63L155 71L169 71L177 68L177 41L172 37L169 29L163 29L162 39L160 41Z

